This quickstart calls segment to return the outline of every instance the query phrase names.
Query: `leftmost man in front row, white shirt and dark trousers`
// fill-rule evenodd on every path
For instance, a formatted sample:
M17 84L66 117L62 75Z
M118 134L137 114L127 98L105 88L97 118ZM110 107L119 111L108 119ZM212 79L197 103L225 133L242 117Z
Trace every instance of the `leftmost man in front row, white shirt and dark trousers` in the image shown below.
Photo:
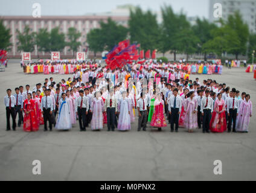
M14 116L14 104L15 104L15 98L13 95L11 95L11 89L6 90L7 95L4 96L4 104L5 104L5 110L6 110L6 130L10 131L11 126L10 126L10 116L11 119L13 119L13 131L16 130L16 121L15 121L15 116Z

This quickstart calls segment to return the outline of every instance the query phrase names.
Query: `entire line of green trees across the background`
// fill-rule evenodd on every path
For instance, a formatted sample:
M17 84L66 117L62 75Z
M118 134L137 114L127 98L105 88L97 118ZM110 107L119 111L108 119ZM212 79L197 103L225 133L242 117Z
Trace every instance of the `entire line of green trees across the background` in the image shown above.
M174 13L169 5L161 7L162 22L158 24L156 14L152 11L142 11L140 7L130 9L130 17L127 27L118 25L112 19L106 22L100 21L100 28L95 28L87 34L86 42L89 49L97 52L110 51L118 42L130 39L131 43L139 43L140 49L152 52L157 49L164 56L170 52L202 54L204 60L208 54L215 54L222 58L224 53L238 55L248 54L256 50L256 34L250 34L248 25L243 21L241 14L235 11L224 21L220 19L216 23L210 23L206 19L196 19L196 24L191 25L187 16L182 13ZM0 21L0 48L10 48L10 29L5 29ZM50 32L44 28L38 33L30 31L25 26L24 31L18 31L18 50L33 52L35 45L38 51L62 51L65 46L69 50L77 52L82 44L78 41L81 33L75 28L69 28L68 33L60 33L59 28L53 28ZM67 39L67 41L65 41Z

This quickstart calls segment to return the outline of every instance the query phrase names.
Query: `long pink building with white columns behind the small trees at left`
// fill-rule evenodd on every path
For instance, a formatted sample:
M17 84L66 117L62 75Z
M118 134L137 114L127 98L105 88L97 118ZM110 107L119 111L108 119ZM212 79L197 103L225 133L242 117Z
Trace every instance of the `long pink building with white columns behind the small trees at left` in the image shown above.
M117 24L121 24L127 27L127 21L129 16L120 16L120 15L85 15L85 16L42 16L42 17L32 17L32 16L2 16L0 19L4 21L4 25L7 28L10 28L11 32L11 51L9 51L10 57L21 57L21 52L18 50L18 39L17 39L17 30L23 31L25 25L30 27L31 32L38 32L40 28L47 28L48 31L55 27L60 28L60 32L66 34L69 27L76 28L82 36L78 41L82 43L78 51L86 51L86 36L89 31L93 28L100 27L100 21L107 21L107 18L110 17ZM89 55L92 55L92 52L89 52ZM31 53L32 57L43 57L50 58L50 53L39 52L35 46L35 50ZM69 48L66 46L63 52L60 53L61 57L72 57L72 52L69 51Z

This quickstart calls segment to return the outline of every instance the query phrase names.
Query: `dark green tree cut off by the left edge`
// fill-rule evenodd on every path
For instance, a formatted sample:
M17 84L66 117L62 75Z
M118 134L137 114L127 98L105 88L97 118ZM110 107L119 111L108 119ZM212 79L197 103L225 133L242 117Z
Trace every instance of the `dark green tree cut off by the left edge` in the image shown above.
M5 28L2 20L0 20L0 49L10 50L10 39L10 29Z

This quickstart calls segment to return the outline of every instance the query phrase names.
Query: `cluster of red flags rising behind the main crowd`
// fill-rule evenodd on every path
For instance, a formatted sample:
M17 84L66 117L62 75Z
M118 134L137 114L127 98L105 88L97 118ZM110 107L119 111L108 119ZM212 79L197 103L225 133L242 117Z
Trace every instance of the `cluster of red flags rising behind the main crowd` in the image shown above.
M115 69L122 68L124 65L131 64L133 60L138 60L139 45L135 43L130 45L130 40L119 42L107 55L106 55L106 68Z

